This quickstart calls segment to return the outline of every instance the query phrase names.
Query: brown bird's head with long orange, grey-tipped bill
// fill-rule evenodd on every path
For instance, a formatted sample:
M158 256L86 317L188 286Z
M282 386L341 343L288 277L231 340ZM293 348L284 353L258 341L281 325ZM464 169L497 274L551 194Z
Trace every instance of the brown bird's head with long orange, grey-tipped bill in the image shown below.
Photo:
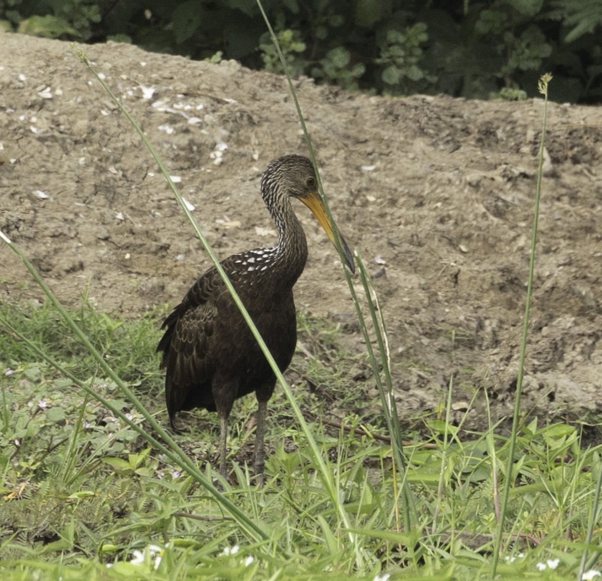
M347 246L343 235L338 231L337 225L328 219L324 204L318 192L318 180L315 177L311 161L302 155L285 155L270 162L261 177L261 194L265 204L272 207L274 204L283 203L283 198L293 197L301 200L318 219L324 232L335 246L338 237L345 262L350 271L355 272L353 254Z

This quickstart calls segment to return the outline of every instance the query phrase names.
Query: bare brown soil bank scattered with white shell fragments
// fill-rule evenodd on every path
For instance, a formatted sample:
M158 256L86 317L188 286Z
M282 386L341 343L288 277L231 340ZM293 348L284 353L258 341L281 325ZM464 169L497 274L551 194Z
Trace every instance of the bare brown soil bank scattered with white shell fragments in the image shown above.
M2 232L66 304L87 289L126 316L178 303L209 260L134 129L69 43L4 33L0 43ZM181 179L217 254L273 244L259 176L306 153L286 80L128 45L85 50ZM374 274L400 414L436 410L450 377L456 420L476 388L494 419L509 414L542 99L295 84L334 217ZM602 410L601 158L602 108L551 103L524 381L524 409L542 419ZM365 352L337 253L301 204L299 215L310 256L297 307L343 325L344 347ZM6 245L0 262L0 300L41 298ZM484 402L481 391L468 426L486 425Z

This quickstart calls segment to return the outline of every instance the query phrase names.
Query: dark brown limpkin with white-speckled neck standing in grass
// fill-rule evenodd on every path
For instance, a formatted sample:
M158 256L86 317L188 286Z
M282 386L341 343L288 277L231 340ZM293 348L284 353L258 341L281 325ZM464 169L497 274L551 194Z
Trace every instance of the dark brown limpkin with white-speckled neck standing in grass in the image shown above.
M281 371L297 343L293 286L308 256L305 232L291 206L301 200L314 213L332 242L338 236L347 266L353 257L324 212L314 168L308 158L287 155L270 162L261 178L261 195L278 227L278 245L234 254L222 266L249 311ZM234 400L255 392L255 473L264 469L267 402L276 377L247 327L216 268L210 268L165 319L163 351L165 395L172 428L178 411L205 408L220 418L220 473L226 477L226 432Z

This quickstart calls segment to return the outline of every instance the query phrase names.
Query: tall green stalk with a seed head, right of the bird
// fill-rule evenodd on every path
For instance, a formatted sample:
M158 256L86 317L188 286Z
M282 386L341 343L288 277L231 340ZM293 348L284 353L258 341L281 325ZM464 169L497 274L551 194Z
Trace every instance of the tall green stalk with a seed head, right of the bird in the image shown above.
M497 564L500 559L501 538L504 532L504 521L506 517L506 506L510 493L510 482L512 481L512 466L514 464L514 451L516 449L518 437L518 422L521 413L521 390L523 389L525 354L527 352L527 337L529 336L529 314L531 309L531 297L533 291L533 272L535 271L535 247L537 244L537 227L539 221L539 198L541 197L541 178L544 168L544 144L545 144L545 126L548 115L548 84L552 76L547 73L539 80L539 92L544 96L544 118L542 120L541 142L539 143L539 168L537 173L537 185L535 188L535 209L533 213L533 233L531 236L531 253L529 258L529 279L527 280L527 300L525 303L525 313L523 319L523 337L521 339L520 360L518 362L517 390L514 397L514 416L512 416L512 432L508 446L508 464L506 469L506 478L504 479L504 489L501 496L500 520L497 527L497 536L494 543L494 555L491 565L491 579L495 579Z

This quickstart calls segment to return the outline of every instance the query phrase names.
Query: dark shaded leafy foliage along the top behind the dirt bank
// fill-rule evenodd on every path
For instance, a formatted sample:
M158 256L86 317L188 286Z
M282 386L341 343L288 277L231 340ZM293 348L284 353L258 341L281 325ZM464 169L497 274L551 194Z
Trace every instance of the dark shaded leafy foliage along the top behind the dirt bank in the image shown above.
M600 0L266 0L293 75L372 93L602 98ZM0 22L26 34L131 41L151 51L211 59L221 53L282 73L254 0L0 0ZM521 92L522 91L522 92Z

